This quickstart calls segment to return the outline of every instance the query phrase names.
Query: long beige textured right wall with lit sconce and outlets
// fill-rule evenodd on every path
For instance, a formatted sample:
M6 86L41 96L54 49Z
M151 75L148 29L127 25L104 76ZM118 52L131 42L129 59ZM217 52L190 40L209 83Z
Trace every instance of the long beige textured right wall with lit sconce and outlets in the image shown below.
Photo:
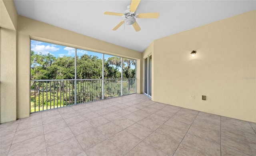
M155 40L153 97L256 122L256 10Z

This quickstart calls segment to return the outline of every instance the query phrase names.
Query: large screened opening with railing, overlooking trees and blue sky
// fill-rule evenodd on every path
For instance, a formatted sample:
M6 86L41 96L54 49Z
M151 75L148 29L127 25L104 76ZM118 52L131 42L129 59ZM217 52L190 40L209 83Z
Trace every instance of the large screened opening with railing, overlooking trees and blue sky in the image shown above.
M30 67L31 112L136 93L128 58L31 40Z

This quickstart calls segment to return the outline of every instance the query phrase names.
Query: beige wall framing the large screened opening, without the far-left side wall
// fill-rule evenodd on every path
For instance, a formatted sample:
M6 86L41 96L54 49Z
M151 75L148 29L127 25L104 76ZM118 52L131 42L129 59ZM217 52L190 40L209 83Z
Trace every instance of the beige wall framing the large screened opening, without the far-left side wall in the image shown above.
M29 114L30 103L30 38L44 42L52 42L64 46L103 52L137 60L140 66L142 53L123 48L108 42L97 40L82 34L71 32L50 24L45 24L30 18L18 16L18 79L17 79L17 118L24 118ZM142 92L141 71L137 68L137 93Z

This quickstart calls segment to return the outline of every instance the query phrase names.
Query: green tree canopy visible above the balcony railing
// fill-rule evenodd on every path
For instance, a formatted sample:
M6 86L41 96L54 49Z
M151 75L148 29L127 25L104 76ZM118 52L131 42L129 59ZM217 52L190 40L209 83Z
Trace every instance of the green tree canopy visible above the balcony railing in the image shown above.
M84 54L76 58L77 79L102 78L102 59L97 56ZM31 51L31 80L56 80L75 78L75 58L72 56L55 57L52 54L36 54ZM120 57L110 57L104 60L104 78L121 78L121 64L123 78L135 78L133 68L136 61Z

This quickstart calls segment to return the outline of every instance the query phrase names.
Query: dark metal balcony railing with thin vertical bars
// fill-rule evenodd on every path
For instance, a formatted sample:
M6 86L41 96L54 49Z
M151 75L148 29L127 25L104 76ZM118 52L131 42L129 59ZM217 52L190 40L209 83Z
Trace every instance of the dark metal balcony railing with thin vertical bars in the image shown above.
M30 82L30 112L136 93L135 78L30 80Z

